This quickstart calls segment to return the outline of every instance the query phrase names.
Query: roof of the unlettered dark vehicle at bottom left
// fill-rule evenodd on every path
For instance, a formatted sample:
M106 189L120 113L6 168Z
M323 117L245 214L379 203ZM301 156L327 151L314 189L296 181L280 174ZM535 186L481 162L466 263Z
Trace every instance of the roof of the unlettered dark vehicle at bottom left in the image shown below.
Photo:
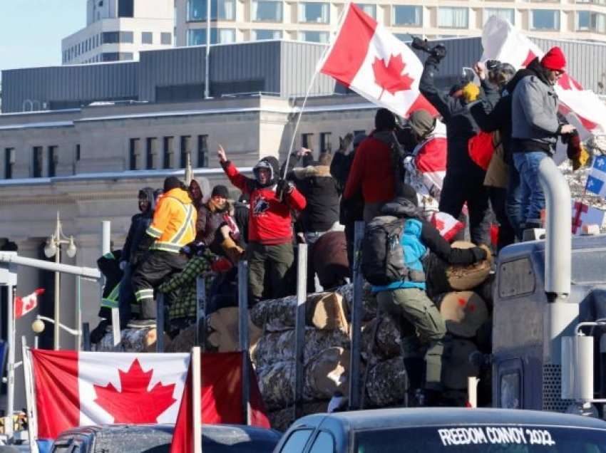
M73 429L68 429L61 433L61 437L71 436L73 434L95 434L97 436L120 436L120 435L145 435L150 432L162 432L173 434L175 425L172 424L108 424L108 425L92 425L83 426ZM246 425L202 425L202 437L207 437L215 441L221 439L237 439L246 436L251 440L262 439L279 439L281 434L274 429L266 429L260 427ZM241 442L241 440L240 440Z

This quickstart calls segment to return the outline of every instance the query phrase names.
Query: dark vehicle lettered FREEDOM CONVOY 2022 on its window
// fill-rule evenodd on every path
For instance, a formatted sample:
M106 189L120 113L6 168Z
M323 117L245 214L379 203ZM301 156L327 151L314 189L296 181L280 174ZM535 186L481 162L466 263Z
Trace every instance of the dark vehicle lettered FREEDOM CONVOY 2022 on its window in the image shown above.
M377 409L302 417L274 453L606 453L606 422L506 409Z

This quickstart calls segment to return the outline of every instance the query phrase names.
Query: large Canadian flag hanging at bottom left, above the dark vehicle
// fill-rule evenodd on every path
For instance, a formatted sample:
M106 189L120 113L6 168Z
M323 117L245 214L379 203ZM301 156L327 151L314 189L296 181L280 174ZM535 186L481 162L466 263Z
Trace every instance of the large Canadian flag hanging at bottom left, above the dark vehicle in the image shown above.
M175 423L190 354L34 349L31 360L44 443L78 426Z

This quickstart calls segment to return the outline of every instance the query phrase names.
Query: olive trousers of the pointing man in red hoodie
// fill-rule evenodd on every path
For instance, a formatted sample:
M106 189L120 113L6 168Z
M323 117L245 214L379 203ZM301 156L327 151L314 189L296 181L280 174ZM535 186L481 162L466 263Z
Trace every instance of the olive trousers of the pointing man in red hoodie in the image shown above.
M263 296L265 271L268 272L269 288L267 297L279 298L287 296L287 274L294 261L292 243L264 245L250 241L246 249L248 259L249 297L252 303L260 301Z

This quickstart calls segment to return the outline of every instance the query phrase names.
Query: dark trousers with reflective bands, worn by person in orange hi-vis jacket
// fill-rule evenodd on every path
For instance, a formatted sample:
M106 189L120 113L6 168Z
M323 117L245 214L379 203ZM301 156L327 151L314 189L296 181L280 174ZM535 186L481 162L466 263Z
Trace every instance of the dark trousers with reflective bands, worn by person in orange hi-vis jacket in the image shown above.
M173 272L183 271L188 259L185 255L170 251L153 250L133 273L133 290L140 304L140 318L155 319L153 288L163 283Z

